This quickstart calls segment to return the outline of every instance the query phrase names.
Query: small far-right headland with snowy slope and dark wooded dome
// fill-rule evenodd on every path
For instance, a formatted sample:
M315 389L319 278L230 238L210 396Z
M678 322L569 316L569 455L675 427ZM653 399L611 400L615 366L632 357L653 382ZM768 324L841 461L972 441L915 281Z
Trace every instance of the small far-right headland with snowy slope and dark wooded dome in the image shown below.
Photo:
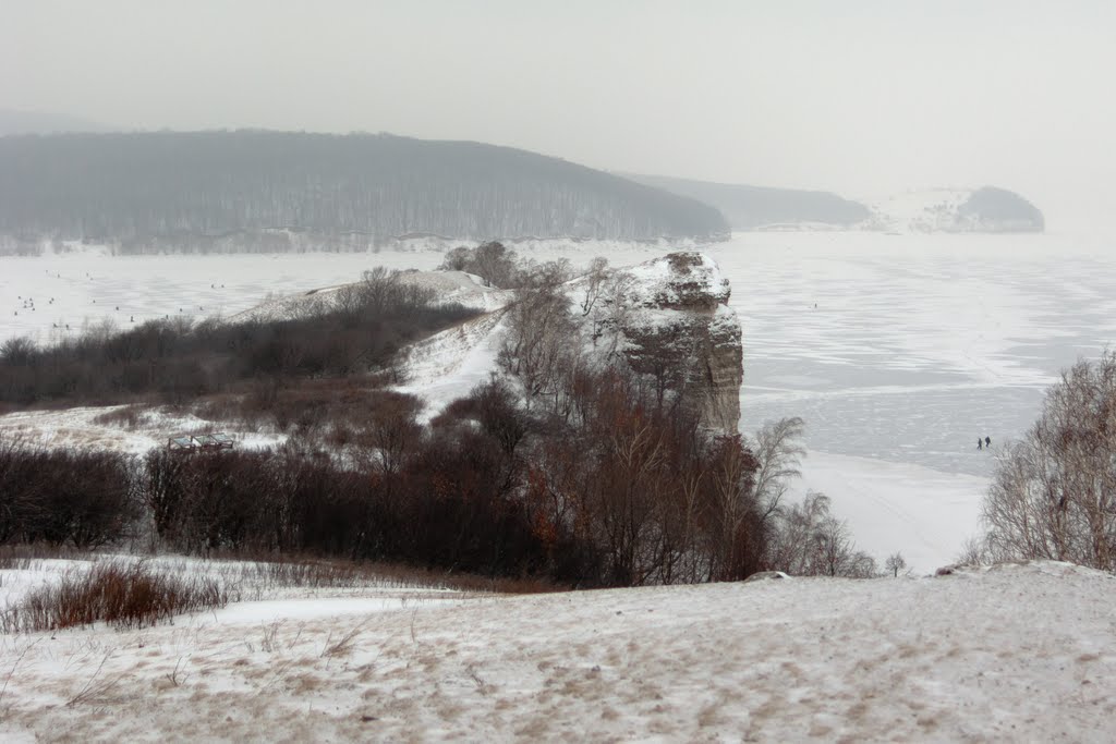
M1019 194L982 189L930 189L873 206L862 228L885 232L1042 232L1042 212Z

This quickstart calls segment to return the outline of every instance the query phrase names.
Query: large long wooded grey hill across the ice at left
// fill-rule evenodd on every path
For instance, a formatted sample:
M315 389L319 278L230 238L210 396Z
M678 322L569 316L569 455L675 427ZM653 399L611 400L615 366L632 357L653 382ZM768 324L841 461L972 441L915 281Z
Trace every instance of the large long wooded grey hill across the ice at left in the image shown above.
M0 234L204 250L310 234L721 239L712 206L510 147L262 131L0 138ZM354 235L357 238L354 239ZM233 240L232 242L235 242Z

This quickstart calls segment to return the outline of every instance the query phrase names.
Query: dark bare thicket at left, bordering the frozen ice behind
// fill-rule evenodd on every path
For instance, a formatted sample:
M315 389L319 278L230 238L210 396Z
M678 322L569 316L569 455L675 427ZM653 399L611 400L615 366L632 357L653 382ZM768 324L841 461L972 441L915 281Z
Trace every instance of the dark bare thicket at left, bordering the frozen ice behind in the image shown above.
M172 403L248 380L343 377L382 368L405 344L477 315L433 305L430 290L383 270L366 272L328 311L239 323L150 321L55 346L0 346L0 402L114 402L157 394Z

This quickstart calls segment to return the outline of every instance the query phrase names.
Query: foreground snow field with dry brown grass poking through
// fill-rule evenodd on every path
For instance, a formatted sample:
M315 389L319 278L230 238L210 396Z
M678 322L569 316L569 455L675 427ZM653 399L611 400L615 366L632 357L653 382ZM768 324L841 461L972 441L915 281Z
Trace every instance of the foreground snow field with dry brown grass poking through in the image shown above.
M0 736L1109 742L1116 719L1116 578L1064 563L347 602L4 636Z

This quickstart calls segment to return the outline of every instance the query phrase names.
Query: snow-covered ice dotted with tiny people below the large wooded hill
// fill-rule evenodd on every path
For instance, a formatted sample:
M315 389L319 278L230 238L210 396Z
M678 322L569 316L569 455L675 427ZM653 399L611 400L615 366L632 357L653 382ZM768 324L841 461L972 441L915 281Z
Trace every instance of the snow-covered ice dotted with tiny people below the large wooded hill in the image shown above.
M666 250L558 240L522 241L516 249L532 258L567 257L577 264L602 254L636 257L625 261L635 263ZM106 320L126 328L164 317L228 318L279 296L357 281L377 265L429 270L443 258L434 250L113 257L94 249L0 258L0 342L25 335L48 341Z

